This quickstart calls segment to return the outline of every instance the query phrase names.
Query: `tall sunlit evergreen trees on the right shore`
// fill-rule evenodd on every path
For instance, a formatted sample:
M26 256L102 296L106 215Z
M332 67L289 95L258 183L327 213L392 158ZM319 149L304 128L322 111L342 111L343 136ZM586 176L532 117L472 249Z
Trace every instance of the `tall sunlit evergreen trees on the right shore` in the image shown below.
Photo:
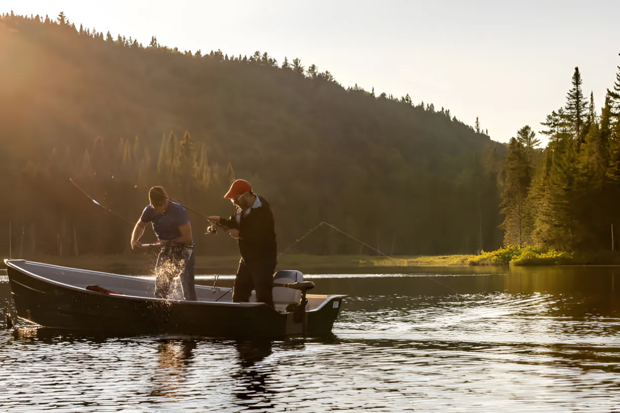
M503 167L505 245L617 250L620 207L620 66L604 103L582 90L578 67L564 107L547 115L539 147L521 128Z

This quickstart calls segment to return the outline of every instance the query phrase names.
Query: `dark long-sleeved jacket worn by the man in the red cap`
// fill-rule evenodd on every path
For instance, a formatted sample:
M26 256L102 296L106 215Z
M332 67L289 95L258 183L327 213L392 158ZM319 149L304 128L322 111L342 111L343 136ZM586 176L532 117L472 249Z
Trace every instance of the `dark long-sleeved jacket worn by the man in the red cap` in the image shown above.
M222 218L220 224L239 230L237 243L241 258L246 263L275 264L278 245L275 239L273 214L269 202L262 196L258 197L262 205L250 209L247 215L241 213L241 224L237 225L236 215L231 215L229 219Z

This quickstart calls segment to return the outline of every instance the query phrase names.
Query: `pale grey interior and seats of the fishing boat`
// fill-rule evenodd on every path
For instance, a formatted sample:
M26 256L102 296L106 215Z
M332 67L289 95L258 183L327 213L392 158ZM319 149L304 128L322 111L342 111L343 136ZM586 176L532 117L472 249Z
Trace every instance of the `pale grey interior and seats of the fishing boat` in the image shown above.
M51 264L34 263L21 259L5 260L7 265L31 274L61 284L71 285L80 289L86 289L89 285L98 285L110 292L132 297L154 298L155 280L153 277L136 277L110 274L107 272L87 271L84 269L55 266ZM274 274L274 282L277 284L294 284L303 282L303 274L295 270L281 270ZM183 300L179 278L174 279L169 300ZM226 287L211 287L196 285L196 296L199 302L232 302L232 289ZM329 296L307 294L308 305L306 311L316 310ZM250 302L256 302L256 293L252 291ZM288 287L273 287L273 302L276 310L285 311L290 303L301 302L301 292Z

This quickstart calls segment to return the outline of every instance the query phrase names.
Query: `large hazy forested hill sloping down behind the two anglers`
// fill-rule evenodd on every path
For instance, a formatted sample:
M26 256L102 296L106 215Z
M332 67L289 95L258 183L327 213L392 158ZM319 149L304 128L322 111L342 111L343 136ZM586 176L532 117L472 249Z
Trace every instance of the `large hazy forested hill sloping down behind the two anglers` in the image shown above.
M0 65L0 185L10 194L0 216L24 253L128 247L131 228L69 177L132 220L151 185L229 213L224 191L246 178L272 204L280 249L321 221L394 254L502 243L503 145L409 95L345 89L328 71L267 53L182 52L156 38L143 46L64 15L3 15ZM199 253L234 252L192 222ZM328 228L293 250L368 252Z

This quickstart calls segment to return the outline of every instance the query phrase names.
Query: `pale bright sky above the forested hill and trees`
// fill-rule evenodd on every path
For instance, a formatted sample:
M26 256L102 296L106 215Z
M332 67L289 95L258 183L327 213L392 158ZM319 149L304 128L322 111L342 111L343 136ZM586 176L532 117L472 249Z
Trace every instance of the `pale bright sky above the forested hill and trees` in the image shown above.
M409 93L466 124L479 117L507 142L565 104L578 66L597 111L620 66L615 0L0 0L0 11L45 14L148 45L259 50L330 71L343 87ZM542 137L542 136L541 136ZM544 140L543 140L544 141Z

